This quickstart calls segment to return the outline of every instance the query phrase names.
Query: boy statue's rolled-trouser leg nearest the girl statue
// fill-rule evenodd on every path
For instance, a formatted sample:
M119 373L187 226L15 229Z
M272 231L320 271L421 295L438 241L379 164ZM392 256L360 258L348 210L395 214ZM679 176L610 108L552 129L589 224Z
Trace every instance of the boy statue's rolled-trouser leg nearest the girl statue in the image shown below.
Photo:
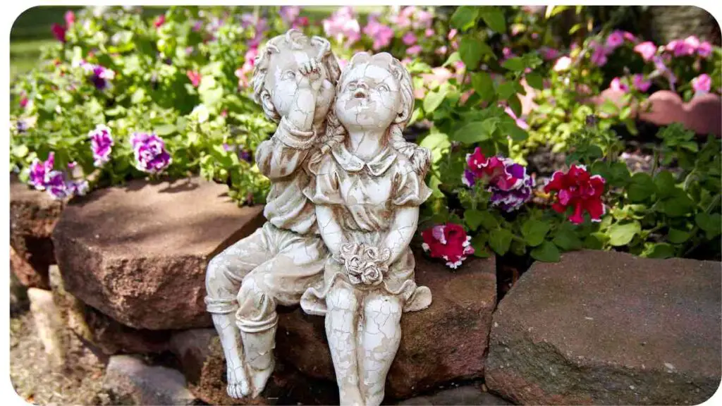
M299 236L277 228L269 231L271 235L269 240L277 247L277 254L243 278L235 316L253 397L263 392L274 369L277 304L300 303L305 290L323 277L328 256L318 236Z

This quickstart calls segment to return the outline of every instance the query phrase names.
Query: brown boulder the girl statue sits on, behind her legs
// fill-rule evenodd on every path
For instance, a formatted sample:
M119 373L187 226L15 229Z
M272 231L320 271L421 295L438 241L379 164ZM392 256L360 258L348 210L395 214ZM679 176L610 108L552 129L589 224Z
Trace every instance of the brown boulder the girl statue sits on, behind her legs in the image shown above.
M390 398L481 377L496 306L493 259L469 259L453 271L420 251L415 257L417 283L430 288L433 301L429 308L401 317L401 345L386 382ZM276 350L308 376L336 380L322 317L300 308L280 313Z

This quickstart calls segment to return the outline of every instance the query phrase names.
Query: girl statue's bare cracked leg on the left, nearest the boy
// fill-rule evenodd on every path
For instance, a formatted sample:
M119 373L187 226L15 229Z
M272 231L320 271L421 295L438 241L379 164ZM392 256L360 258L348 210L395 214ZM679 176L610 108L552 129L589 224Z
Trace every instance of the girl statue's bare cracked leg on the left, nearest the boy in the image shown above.
M359 295L351 285L336 280L326 295L326 337L334 360L339 399L342 406L364 406L359 389L356 360Z

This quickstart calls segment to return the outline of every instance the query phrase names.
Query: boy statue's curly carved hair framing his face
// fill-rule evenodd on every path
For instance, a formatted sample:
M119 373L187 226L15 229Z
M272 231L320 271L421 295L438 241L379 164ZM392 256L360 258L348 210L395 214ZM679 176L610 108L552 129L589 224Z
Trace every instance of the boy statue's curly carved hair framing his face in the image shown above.
M331 43L326 38L313 36L308 38L299 30L291 29L285 34L277 35L271 38L264 48L258 52L256 60L253 65L253 78L251 84L253 85L253 100L260 104L264 108L264 113L271 120L278 122L281 120L278 111L271 103L271 95L266 87L266 73L268 72L268 66L271 61L271 56L274 53L279 53L282 47L286 47L292 50L300 50L305 46L311 46L318 49L318 56L316 60L323 64L323 68L326 70L326 79L336 86L341 76L341 69L339 68L339 62L336 61L336 56L331 52Z

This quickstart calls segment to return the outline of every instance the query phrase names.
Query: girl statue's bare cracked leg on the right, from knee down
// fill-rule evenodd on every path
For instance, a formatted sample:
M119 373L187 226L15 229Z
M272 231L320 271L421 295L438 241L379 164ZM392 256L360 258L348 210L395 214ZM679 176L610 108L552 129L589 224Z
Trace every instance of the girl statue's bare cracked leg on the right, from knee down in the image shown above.
M360 337L361 393L365 405L381 404L386 375L401 342L401 299L371 292L363 303L363 327Z

